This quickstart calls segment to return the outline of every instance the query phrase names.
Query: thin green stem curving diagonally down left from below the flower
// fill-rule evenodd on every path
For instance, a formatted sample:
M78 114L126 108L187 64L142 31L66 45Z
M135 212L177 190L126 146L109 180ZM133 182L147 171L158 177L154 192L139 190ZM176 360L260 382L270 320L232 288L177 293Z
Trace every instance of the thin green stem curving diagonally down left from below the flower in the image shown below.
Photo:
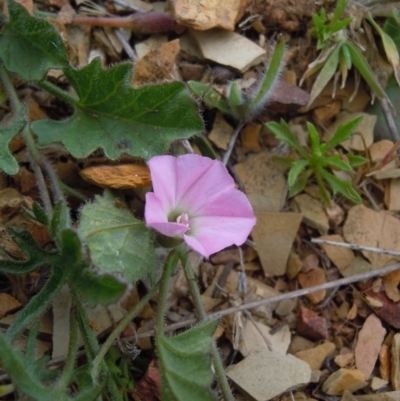
M131 322L137 314L147 305L147 303L150 301L150 299L154 296L154 294L157 292L158 289L158 283L140 300L140 302L132 308L126 315L125 317L117 324L117 326L114 328L112 333L107 337L107 340L104 342L104 344L101 346L100 351L92 361L92 378L93 381L97 381L98 376L100 374L100 365L102 361L104 360L104 357L106 356L108 350L111 348L111 346L114 343L114 340L117 339L117 337L122 333L124 328L127 326L129 322Z

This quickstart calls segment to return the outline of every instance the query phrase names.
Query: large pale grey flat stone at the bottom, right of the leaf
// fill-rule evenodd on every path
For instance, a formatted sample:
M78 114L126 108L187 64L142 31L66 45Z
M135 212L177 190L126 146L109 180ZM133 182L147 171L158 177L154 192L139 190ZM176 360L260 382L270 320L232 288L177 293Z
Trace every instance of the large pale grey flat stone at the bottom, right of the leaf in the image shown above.
M226 369L227 376L256 401L276 397L310 382L311 369L293 355L253 351ZM267 380L268 378L268 380Z

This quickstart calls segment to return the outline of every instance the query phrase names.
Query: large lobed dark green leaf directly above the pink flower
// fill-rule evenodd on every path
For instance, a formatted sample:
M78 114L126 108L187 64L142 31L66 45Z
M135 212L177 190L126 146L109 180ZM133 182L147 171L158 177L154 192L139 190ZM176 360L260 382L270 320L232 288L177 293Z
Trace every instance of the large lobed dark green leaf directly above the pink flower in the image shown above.
M35 121L40 145L62 142L83 158L96 149L116 159L123 153L149 159L171 143L203 130L196 104L183 82L130 85L132 64L103 69L99 58L65 75L79 96L75 113L64 121Z

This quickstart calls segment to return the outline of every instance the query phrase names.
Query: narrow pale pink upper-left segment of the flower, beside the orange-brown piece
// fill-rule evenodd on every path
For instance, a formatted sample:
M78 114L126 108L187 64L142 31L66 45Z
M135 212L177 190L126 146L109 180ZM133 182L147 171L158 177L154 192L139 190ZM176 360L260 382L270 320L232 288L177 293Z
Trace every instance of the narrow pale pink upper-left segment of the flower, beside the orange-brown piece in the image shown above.
M168 213L176 203L176 157L155 156L147 164L150 168L153 191L157 194L167 219Z

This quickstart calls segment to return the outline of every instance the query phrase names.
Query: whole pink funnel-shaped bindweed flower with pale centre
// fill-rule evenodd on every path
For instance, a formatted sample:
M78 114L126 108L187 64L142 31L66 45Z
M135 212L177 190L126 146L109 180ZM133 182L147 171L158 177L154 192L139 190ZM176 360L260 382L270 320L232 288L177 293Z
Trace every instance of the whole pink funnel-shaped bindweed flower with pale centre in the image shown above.
M188 154L156 156L148 164L154 191L146 194L148 226L207 258L246 241L256 218L220 161Z

